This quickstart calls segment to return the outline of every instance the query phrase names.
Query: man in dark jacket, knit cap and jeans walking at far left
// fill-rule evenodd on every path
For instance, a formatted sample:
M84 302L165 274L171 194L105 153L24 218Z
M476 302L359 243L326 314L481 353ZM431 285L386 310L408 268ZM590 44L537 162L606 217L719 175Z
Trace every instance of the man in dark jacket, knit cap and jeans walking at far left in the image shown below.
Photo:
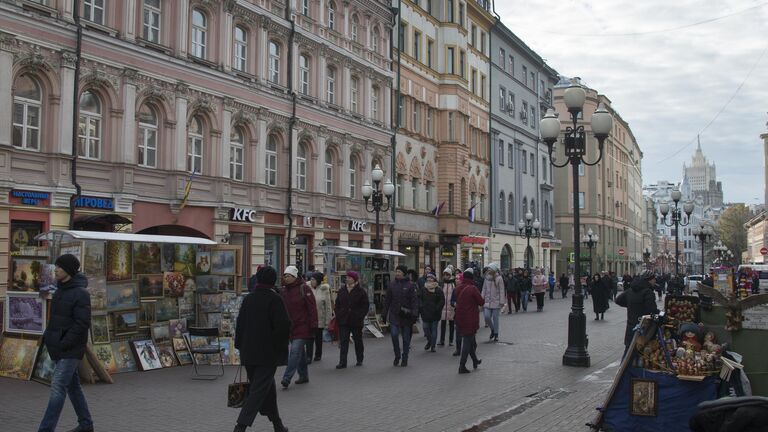
M57 289L51 300L51 319L43 334L43 343L51 360L56 362L56 369L51 379L48 407L38 432L56 430L67 395L77 413L78 424L70 432L92 432L93 419L77 374L91 327L91 297L85 290L88 279L79 272L80 261L74 255L62 255L55 264Z

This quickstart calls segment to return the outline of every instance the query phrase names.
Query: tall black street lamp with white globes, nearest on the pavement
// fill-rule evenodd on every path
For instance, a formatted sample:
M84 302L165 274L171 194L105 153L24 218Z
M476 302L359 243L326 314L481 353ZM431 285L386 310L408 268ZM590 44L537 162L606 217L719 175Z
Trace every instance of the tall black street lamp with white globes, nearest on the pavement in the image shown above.
M587 93L584 89L572 83L563 93L563 101L571 115L572 126L565 129L563 145L565 146L566 161L562 164L555 162L553 153L555 142L560 136L560 120L555 116L554 110L547 110L547 114L539 123L542 140L547 144L550 163L558 168L571 165L573 179L573 250L576 271L581 271L581 242L579 235L579 165L596 165L603 158L603 145L605 139L613 128L613 118L602 103L592 114L592 133L597 139L599 154L594 162L587 162L587 134L584 126L579 125L579 113L584 108ZM587 352L587 318L584 316L584 296L581 286L581 275L576 274L576 291L571 296L571 313L568 315L568 348L563 354L563 364L566 366L589 367L590 358Z

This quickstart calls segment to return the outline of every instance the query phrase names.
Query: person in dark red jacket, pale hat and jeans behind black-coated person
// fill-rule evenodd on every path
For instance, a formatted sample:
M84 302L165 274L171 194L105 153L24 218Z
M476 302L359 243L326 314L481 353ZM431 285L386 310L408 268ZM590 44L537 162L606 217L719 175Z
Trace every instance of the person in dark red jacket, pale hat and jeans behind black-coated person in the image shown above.
M291 318L291 348L288 354L288 365L280 381L283 388L288 388L297 370L299 379L296 380L296 384L309 382L306 345L315 337L317 306L312 288L299 276L299 269L296 266L288 266L283 271L283 287L280 295Z

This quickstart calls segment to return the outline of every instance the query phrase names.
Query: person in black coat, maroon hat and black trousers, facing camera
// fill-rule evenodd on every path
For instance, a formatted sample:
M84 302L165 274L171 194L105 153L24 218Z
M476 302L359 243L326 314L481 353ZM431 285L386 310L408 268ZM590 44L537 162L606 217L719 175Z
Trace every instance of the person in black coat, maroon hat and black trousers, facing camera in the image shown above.
M363 365L363 322L368 307L368 293L360 287L360 276L348 271L347 283L336 295L336 324L339 326L339 364L336 369L347 367L350 333L355 341L356 366Z

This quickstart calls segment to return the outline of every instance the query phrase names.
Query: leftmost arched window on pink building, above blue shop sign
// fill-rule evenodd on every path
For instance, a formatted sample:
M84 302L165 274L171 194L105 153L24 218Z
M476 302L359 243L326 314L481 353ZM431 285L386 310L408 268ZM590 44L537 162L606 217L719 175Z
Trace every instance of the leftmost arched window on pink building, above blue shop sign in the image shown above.
M13 146L40 150L42 92L29 75L16 79L13 91Z

